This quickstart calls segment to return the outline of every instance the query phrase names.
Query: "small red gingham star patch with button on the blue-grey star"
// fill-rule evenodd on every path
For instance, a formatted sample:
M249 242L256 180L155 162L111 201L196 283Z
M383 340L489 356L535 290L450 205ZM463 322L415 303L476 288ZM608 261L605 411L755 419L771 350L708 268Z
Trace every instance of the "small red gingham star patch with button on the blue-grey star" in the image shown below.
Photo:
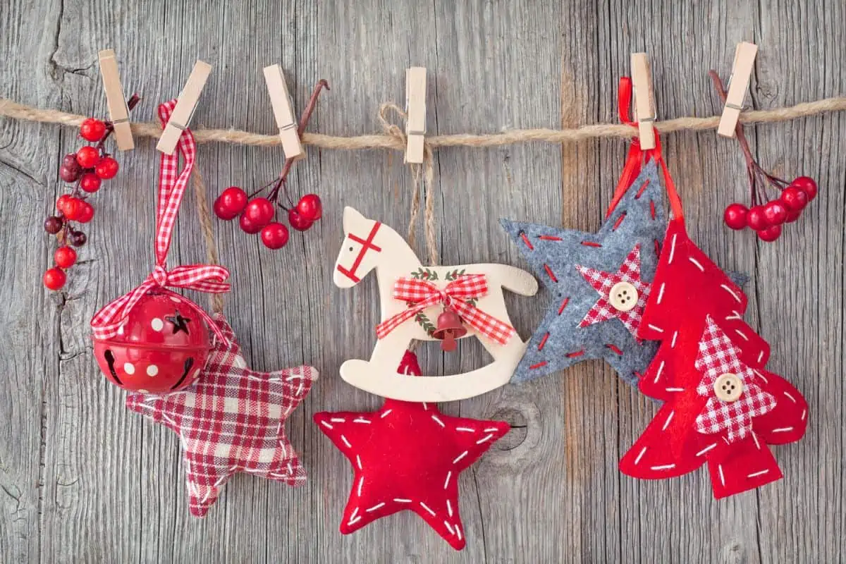
M576 266L576 269L599 293L596 304L588 310L579 326L586 327L617 318L636 337L650 287L640 279L640 244L634 246L616 272L603 272L586 266ZM626 304L631 307L627 308Z

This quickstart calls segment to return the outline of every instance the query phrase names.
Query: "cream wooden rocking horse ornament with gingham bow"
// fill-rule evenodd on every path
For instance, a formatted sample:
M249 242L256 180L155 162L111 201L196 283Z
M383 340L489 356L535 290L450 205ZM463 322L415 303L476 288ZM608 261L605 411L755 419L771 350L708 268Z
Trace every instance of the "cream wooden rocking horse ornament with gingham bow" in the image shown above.
M523 296L537 293L529 272L506 265L424 267L405 239L391 227L347 207L346 238L335 262L338 287L353 287L376 270L382 323L370 361L350 359L341 377L365 392L409 402L451 402L503 386L525 353L508 319L503 288ZM480 369L447 376L409 376L397 372L409 344L437 341L431 320L452 309L466 332L450 327L449 338L478 337L493 362ZM444 331L442 331L444 332Z

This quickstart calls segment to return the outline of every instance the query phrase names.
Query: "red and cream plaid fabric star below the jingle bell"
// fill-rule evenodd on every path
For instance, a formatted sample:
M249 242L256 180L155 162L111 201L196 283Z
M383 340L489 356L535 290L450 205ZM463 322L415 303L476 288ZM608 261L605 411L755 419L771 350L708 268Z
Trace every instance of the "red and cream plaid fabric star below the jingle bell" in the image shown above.
M237 472L288 485L305 482L305 469L285 436L284 424L317 379L317 370L310 366L250 370L232 327L220 314L214 320L229 344L217 339L193 386L126 398L127 408L179 435L195 517L206 515Z

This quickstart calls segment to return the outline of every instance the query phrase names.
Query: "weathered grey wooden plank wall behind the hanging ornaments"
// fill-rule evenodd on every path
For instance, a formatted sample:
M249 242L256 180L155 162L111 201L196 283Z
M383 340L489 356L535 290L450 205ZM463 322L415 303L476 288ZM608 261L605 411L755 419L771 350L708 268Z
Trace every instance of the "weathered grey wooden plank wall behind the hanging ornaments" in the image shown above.
M654 4L654 5L653 5ZM728 74L734 45L761 46L755 107L843 94L843 3L164 2L0 3L0 96L38 107L105 115L99 49L118 52L127 90L145 101L176 96L196 58L214 65L194 125L271 133L261 68L282 63L303 107L326 78L310 129L378 128L382 101L402 101L404 68L429 69L432 134L569 127L616 120L616 84L629 52L651 54L659 116L717 112L708 68ZM288 424L310 472L289 489L241 474L204 520L189 516L179 441L124 409L91 357L87 321L152 264L158 156L151 140L119 156L118 179L96 194L96 218L66 292L41 287L54 241L41 222L64 186L72 129L0 119L0 560L194 562L839 561L846 537L843 481L843 220L846 116L830 114L750 133L765 167L817 178L820 197L776 244L728 233L722 209L745 198L734 141L713 132L664 140L691 234L722 266L751 274L748 318L772 343L771 366L805 393L810 428L776 447L786 479L724 501L705 472L646 483L619 474L618 457L654 405L594 361L525 386L444 406L505 418L514 430L461 477L469 544L454 552L415 515L338 533L349 492L347 461L311 424L320 410L382 402L338 377L367 358L378 315L368 279L338 290L331 267L341 208L404 229L409 174L399 154L310 151L290 184L321 194L316 228L270 252L257 237L216 222L233 273L226 312L252 364L321 370ZM214 197L256 186L283 164L277 149L203 145L199 167ZM501 216L594 229L624 159L624 142L521 145L437 152L437 222L445 264L524 265ZM189 196L172 262L205 257ZM205 303L205 302L204 302ZM514 298L525 336L545 299ZM427 348L430 370L455 370ZM467 346L460 366L482 362ZM445 366L444 366L445 364Z

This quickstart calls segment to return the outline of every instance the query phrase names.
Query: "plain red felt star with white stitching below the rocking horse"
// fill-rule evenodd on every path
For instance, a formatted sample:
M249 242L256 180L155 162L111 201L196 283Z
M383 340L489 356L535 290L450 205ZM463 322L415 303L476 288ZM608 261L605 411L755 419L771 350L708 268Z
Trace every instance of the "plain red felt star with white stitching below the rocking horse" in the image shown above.
M405 353L399 371L420 375L413 353ZM431 403L392 399L376 412L322 412L314 420L353 467L341 533L409 510L455 550L464 548L459 474L508 433L507 423L451 417Z

